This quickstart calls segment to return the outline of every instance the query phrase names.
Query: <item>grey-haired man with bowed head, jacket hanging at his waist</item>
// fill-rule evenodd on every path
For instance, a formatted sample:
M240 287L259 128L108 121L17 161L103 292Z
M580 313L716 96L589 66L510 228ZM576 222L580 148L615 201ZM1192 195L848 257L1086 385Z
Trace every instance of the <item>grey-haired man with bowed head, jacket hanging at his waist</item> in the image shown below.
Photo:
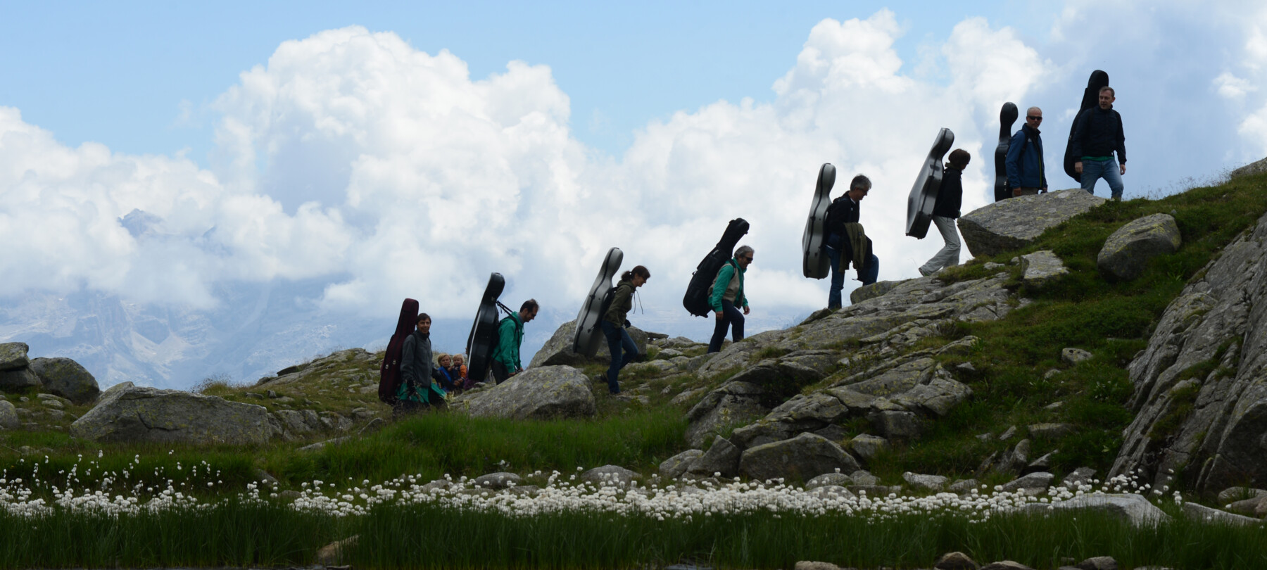
M865 175L854 176L849 190L827 206L827 258L831 260L831 289L827 291L827 308L839 309L840 291L845 288L845 270L854 263L858 280L870 285L879 277L879 257L872 252L870 238L858 222L863 198L870 191L870 179ZM855 246L856 244L856 246Z

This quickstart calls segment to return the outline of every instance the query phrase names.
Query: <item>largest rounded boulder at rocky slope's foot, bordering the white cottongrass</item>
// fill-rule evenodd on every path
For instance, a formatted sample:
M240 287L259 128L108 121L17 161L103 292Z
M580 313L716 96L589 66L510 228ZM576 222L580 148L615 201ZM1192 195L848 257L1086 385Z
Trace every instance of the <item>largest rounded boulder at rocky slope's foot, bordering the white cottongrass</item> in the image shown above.
M862 467L844 447L815 433L750 447L739 460L739 471L759 481L778 478L808 481L837 469L850 474Z

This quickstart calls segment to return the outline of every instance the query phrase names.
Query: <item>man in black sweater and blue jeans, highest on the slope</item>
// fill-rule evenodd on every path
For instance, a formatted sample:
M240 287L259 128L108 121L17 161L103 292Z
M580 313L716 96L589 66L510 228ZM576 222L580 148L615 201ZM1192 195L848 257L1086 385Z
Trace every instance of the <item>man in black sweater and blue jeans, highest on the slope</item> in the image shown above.
M1082 189L1096 193L1096 180L1105 179L1114 200L1121 200L1121 177L1126 174L1126 136L1121 115L1112 108L1117 96L1112 87L1100 87L1100 106L1082 111L1073 124L1069 151L1078 157L1073 170L1082 175ZM1117 167L1112 153L1117 151Z

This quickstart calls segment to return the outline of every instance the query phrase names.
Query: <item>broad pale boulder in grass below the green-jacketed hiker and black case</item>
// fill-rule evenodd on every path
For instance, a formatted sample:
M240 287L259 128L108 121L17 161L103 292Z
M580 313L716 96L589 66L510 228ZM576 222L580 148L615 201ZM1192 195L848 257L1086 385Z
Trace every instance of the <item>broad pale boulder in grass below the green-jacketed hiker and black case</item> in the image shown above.
M597 413L585 375L571 366L530 367L451 405L476 417L512 419L589 418Z

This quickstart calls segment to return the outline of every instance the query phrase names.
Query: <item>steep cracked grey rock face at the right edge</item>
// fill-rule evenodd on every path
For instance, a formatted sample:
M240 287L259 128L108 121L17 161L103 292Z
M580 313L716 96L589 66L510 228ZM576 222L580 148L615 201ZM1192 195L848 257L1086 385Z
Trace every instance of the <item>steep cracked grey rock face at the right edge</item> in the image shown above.
M1267 485L1267 215L1162 313L1128 367L1135 419L1109 476Z

